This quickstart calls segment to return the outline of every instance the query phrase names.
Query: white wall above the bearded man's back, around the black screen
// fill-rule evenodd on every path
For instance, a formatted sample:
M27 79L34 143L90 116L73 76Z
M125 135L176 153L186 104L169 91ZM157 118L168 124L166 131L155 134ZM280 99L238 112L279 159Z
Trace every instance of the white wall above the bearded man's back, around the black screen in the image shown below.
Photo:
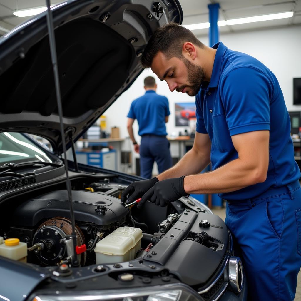
M287 109L301 110L301 105L293 105L293 78L301 77L301 26L225 34L220 39L228 48L250 54L272 70Z

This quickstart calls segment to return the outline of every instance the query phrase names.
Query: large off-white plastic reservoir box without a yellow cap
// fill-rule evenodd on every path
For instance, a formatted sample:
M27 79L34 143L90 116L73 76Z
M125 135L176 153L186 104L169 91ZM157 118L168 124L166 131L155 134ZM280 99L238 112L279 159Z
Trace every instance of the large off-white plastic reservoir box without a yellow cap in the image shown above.
M140 228L120 227L96 244L97 264L133 260L141 248L143 237Z

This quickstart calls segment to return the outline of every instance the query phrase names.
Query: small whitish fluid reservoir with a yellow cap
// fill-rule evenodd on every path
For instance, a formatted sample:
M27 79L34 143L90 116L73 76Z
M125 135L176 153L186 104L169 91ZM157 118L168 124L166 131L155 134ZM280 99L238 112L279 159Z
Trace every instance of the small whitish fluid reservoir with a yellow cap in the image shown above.
M0 256L26 262L27 244L18 238L5 239L4 244L0 244Z

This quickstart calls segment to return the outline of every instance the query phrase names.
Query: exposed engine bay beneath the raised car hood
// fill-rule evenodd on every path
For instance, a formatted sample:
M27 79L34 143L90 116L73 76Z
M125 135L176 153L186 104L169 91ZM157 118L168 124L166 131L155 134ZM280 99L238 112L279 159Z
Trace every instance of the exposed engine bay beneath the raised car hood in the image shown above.
M223 222L195 199L182 197L163 208L150 202L143 209L135 205L126 208L120 197L129 184L120 181L118 176L89 181L88 177L72 180L76 253L80 266L125 262L146 256L150 259L150 251L162 238L165 244L171 245L175 240L178 244L182 240L198 242L214 253L224 254L228 233L220 230ZM27 263L47 267L70 262L72 246L66 239L72 232L70 203L67 190L62 188L64 185L44 188L40 192L47 191L45 193L31 192L28 198L25 194L22 199L14 198L5 203L6 209L12 211L12 218L1 225L0 236L18 238L26 243ZM193 214L189 221L188 213ZM215 225L210 227L208 216L215 220ZM168 238L172 240L167 240L170 229L181 235L171 234Z

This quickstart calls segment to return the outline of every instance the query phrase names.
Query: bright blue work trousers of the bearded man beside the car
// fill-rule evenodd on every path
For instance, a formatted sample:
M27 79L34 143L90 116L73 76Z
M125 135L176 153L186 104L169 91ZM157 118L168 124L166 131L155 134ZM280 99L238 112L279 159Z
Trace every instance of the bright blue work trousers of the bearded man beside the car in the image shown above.
M248 300L293 301L301 266L299 181L228 201L225 222L241 252Z

